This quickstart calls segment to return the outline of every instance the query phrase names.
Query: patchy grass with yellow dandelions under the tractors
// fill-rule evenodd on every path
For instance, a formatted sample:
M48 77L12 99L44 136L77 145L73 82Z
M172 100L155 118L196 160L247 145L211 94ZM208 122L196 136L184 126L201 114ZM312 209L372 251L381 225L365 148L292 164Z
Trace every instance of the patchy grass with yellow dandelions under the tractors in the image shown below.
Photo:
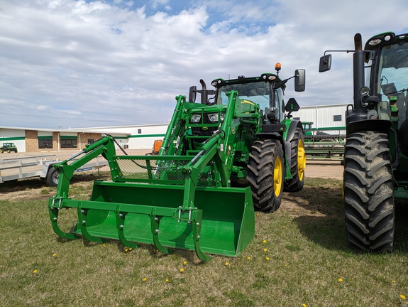
M91 186L77 180L72 198ZM408 306L408 209L397 206L395 252L357 252L341 181L307 178L277 212L256 215L242 254L208 263L192 251L60 239L47 207L55 188L39 180L0 193L0 306Z

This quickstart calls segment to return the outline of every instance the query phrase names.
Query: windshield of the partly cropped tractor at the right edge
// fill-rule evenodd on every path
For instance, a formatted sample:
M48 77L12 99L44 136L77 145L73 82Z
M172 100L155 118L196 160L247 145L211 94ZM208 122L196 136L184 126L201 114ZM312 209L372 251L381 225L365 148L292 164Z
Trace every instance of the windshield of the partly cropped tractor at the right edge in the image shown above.
M381 100L408 89L408 43L387 45L380 50L376 92ZM406 93L405 93L406 94Z

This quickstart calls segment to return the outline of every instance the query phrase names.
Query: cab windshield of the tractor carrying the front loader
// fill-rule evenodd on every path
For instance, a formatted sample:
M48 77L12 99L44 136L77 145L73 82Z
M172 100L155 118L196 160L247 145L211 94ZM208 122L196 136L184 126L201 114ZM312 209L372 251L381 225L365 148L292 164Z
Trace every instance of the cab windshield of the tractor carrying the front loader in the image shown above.
M219 88L217 104L228 104L228 96L226 92L231 90L238 91L238 97L247 99L259 104L261 110L270 107L270 83L269 82L253 82L237 85L224 85Z

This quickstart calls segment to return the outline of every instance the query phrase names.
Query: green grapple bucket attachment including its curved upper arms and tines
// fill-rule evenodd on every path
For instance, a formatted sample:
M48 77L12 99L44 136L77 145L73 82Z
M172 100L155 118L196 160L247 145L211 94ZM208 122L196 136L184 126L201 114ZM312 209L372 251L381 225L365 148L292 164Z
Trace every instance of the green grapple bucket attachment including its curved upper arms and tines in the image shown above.
M216 158L220 138L207 141L197 156L117 156L111 137L91 144L84 151L92 155L57 165L57 195L48 204L54 231L67 239L118 239L132 248L154 244L167 254L190 249L204 261L211 259L207 254L237 256L255 235L253 200L249 187L226 185L226 171L219 171L225 164ZM112 181L94 181L89 200L71 199L75 169L99 153L109 161ZM72 232L58 226L62 208L77 209Z

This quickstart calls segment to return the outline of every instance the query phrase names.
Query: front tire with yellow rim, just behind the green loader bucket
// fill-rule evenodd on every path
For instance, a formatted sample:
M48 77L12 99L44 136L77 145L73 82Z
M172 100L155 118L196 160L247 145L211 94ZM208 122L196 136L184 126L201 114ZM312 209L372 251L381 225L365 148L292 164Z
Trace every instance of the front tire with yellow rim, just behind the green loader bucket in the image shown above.
M248 161L247 180L255 210L274 212L280 207L284 161L280 141L267 139L254 142Z

